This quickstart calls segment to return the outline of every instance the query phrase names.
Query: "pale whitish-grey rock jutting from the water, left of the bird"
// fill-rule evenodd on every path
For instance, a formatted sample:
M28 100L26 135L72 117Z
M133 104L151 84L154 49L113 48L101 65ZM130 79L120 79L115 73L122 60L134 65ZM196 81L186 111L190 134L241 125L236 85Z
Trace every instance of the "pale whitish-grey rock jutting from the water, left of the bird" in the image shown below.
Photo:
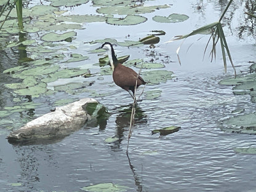
M11 132L7 139L13 141L62 137L79 130L84 124L98 113L89 114L86 111L89 103L98 103L93 98L82 98L78 102L73 102L65 106L57 107L54 112L44 114L43 116L28 122L14 132ZM100 105L100 110L105 110ZM96 110L96 109L95 109ZM97 110L99 110L97 108Z

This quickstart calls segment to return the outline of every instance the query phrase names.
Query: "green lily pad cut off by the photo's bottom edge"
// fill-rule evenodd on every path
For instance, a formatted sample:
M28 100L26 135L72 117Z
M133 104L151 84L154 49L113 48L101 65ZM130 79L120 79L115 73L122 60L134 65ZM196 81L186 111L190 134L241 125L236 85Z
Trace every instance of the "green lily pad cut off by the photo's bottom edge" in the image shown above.
M100 183L97 185L85 186L81 188L82 191L90 191L90 192L103 192L103 191L111 191L111 192L122 192L127 191L127 186L116 185L114 183Z

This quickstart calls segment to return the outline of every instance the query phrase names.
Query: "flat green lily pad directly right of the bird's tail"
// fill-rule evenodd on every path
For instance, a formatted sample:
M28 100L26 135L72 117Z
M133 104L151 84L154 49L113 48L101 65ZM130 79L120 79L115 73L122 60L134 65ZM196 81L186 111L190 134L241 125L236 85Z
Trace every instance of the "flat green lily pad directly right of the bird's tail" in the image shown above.
M142 78L148 82L147 85L155 85L161 82L167 82L172 79L172 71L155 70L155 71L142 71Z

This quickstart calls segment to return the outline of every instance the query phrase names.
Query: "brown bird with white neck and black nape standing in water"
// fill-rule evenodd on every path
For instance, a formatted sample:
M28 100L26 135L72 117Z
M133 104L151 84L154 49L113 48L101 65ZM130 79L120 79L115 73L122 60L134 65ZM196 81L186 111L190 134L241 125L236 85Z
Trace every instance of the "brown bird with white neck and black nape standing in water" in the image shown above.
M102 44L101 48L105 49L106 52L108 53L108 59L110 60L110 65L113 70L114 83L117 86L121 87L122 89L127 90L130 96L134 98L136 80L137 80L136 89L138 88L138 86L145 85L146 82L134 70L118 62L118 59L114 54L113 45L110 42L105 42L104 44ZM132 91L133 95L130 93L130 91ZM136 99L134 98L134 100Z

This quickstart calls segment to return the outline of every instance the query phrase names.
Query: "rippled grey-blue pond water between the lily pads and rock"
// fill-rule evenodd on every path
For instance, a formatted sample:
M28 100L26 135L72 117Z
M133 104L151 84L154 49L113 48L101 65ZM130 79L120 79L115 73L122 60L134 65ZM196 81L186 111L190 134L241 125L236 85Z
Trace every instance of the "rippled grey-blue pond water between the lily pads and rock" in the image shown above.
M146 2L148 4L170 3L166 1ZM124 41L127 33L130 38L138 38L150 30L164 30L159 47L154 49L153 57L146 56L148 47L127 49L116 47L118 55L130 54L131 58L145 58L161 61L166 70L174 71L177 79L157 86L146 86L146 90L159 89L162 95L154 100L138 103L137 110L142 118L135 122L130 138L129 159L126 156L129 118L126 112L132 100L126 91L114 86L111 76L104 76L92 85L94 90L107 94L96 99L108 107L112 115L106 127L88 125L68 137L52 143L38 145L10 145L0 135L0 186L2 191L81 191L90 184L113 182L128 186L128 191L255 191L255 155L235 153L233 148L255 147L255 135L230 134L223 132L222 120L232 116L231 111L244 108L246 113L255 111L249 95L233 95L231 87L220 86L218 81L233 75L223 72L223 63L218 50L217 59L210 63L202 52L207 38L203 38L186 52L197 38L186 39L180 51L180 66L175 50L181 42L163 44L172 36L186 34L198 26L214 22L220 15L219 3L204 2L202 11L196 10L198 1L172 1L174 6L159 10L157 14L169 15L172 12L187 14L190 20L177 24L159 24L151 20L135 26L105 25L105 31L97 30L102 23L92 23L86 30L78 31L74 44L84 53L92 39L115 38ZM86 5L86 6L90 6ZM238 14L238 10L233 10ZM74 7L71 12L78 12ZM210 14L211 13L211 14ZM151 18L153 14L146 14ZM204 18L202 20L202 17ZM238 17L240 19L240 17ZM225 28L233 61L239 71L249 67L247 62L255 60L254 42L239 40L235 34L238 20L226 21L234 25L232 33ZM154 26L154 27L152 27ZM88 35L87 35L88 34ZM95 45L97 47L98 45ZM161 54L161 55L160 55ZM169 56L168 58L166 56ZM90 54L85 63L96 63L98 56ZM92 71L97 71L97 68ZM110 82L111 86L103 83ZM1 84L3 81L1 81ZM103 84L103 85L102 85ZM102 89L102 86L107 89ZM4 90L2 90L4 92ZM88 93L79 95L87 97ZM3 97L3 95L1 96ZM31 119L47 113L50 105L60 98L70 95L59 93L35 99L45 105L31 112ZM6 103L11 101L6 99ZM25 114L24 114L25 115ZM13 115L10 121L23 124L22 116ZM20 119L20 120L19 120ZM167 126L181 126L174 134L151 135L151 130ZM118 136L120 142L104 143L105 138ZM129 164L130 160L130 164ZM11 183L22 183L12 186Z

